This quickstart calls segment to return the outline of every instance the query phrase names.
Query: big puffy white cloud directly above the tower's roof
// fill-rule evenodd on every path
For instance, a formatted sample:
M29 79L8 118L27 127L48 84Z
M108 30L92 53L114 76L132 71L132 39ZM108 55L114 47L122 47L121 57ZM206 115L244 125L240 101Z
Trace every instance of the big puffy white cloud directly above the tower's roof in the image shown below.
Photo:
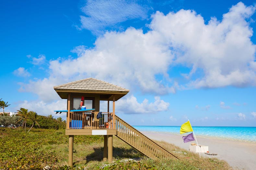
M164 85L155 77L168 77L168 66L173 58L157 33L143 34L142 30L129 28L122 33L106 33L97 39L95 45L94 49L76 47L73 50L78 55L76 59L51 61L52 75L79 75L82 79L93 74L95 78L131 91L138 89L156 94L175 93L173 86Z

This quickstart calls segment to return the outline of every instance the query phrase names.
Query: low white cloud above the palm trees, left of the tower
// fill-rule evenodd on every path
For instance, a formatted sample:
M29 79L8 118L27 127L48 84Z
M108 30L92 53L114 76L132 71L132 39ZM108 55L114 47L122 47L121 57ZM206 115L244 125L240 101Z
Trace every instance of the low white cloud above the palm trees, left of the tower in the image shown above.
M23 103L18 105L18 109L26 108L29 111L34 111L39 115L55 115L54 110L66 110L67 109L67 101L66 100L58 100L52 103L45 103L44 101L27 101L25 100ZM58 114L54 117L62 117L66 120L66 113Z

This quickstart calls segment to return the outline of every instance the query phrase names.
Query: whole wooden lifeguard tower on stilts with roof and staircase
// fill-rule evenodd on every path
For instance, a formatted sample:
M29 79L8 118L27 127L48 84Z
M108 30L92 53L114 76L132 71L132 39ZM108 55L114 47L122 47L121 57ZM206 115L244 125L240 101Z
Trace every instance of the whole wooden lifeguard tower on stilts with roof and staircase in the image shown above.
M53 88L62 99L67 99L67 110L62 112L67 112L65 134L69 135L69 166L73 165L74 135L104 135L103 161L109 163L112 162L113 135L153 159L176 157L115 115L115 102L129 90L95 78ZM80 110L81 99L84 99L86 110ZM107 101L106 112L101 111L100 101ZM110 101L112 112L109 110Z

